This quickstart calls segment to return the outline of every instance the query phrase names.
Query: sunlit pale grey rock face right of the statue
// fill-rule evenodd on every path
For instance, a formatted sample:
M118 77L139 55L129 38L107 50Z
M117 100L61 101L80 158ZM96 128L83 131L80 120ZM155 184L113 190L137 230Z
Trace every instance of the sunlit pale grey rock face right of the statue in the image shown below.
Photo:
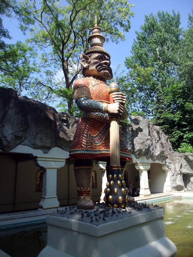
M123 128L130 152L152 161L166 163L172 191L193 191L193 154L174 152L168 136L141 116L130 116L131 125Z

